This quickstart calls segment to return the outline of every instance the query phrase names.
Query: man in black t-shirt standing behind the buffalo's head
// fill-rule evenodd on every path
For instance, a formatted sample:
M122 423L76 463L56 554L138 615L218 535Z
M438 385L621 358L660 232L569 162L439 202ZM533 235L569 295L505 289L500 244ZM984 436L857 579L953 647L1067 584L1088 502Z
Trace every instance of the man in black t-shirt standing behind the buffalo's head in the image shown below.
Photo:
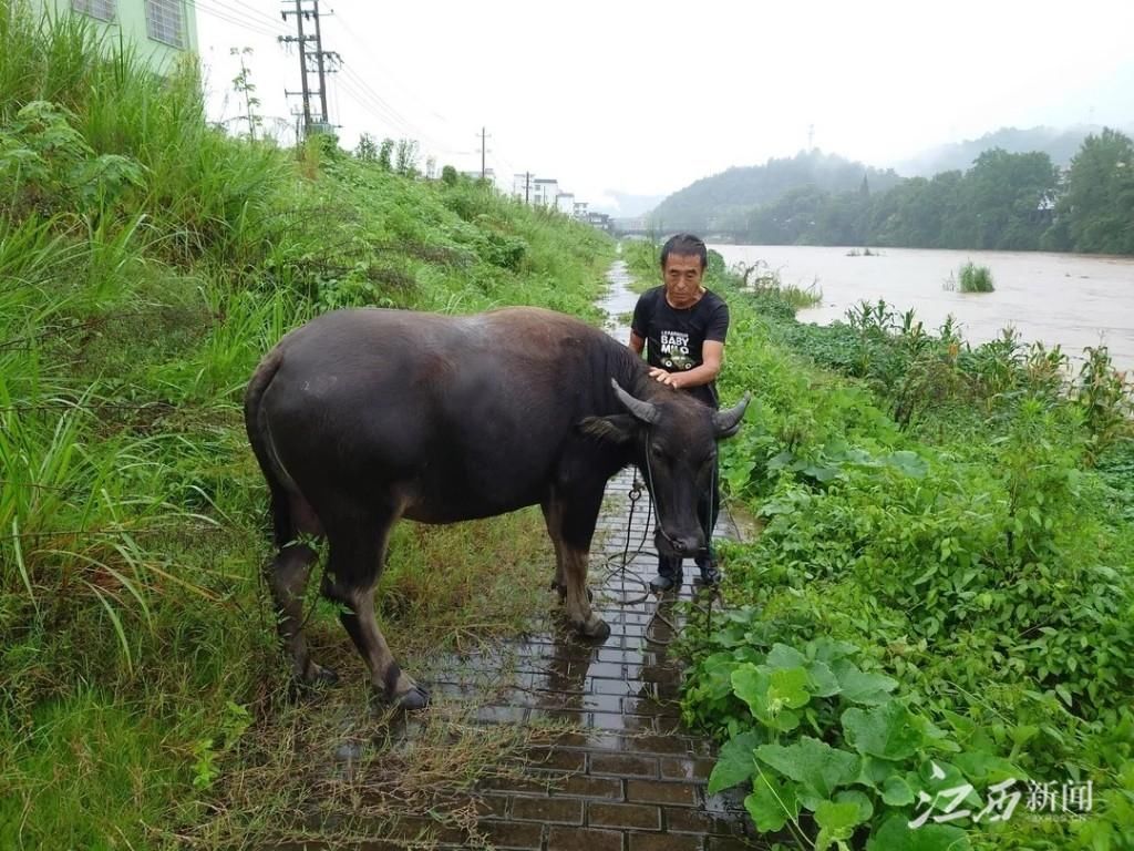
M709 252L691 234L671 237L661 248L662 285L643 293L634 307L631 348L643 349L650 374L658 381L692 394L712 407L718 406L716 379L725 354L728 334L728 305L701 285ZM697 516L705 529L706 553L697 554L701 581L720 581L712 553L712 530L720 511L717 467L712 485L697 500ZM650 582L654 591L682 587L682 558L658 556L658 575Z

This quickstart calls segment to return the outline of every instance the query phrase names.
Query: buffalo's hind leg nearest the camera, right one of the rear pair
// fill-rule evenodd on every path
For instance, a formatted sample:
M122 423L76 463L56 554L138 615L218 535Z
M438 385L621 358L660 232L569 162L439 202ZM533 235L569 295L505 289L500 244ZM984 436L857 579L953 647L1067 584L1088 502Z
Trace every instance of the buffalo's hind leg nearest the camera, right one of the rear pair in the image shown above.
M339 603L339 621L370 668L374 691L404 709L424 709L429 692L398 667L374 616L374 585L386 562L392 519L363 522L349 533L330 536L323 593Z

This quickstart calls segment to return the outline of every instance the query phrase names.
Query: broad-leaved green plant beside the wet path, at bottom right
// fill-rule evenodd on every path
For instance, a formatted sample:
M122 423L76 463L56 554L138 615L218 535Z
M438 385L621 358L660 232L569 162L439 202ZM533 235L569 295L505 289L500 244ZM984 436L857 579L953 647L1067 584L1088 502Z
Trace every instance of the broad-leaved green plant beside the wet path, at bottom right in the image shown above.
M744 804L756 828L789 827L802 848L816 851L866 839L875 849L968 848L959 827L932 825L921 835L911 828L915 801L928 797L931 810L943 807L938 793L975 780L976 767L981 780L993 766L996 775L1023 778L1023 772L987 753L962 753L945 731L894 694L897 681L863 671L854 655L854 644L815 639L802 649L775 643L767 654L744 647L708 657L702 664L711 677L687 692L686 713L695 718L702 698L719 694L727 675L723 697L733 700L736 727L743 728L721 749L709 792L751 784ZM954 765L962 759L973 776ZM968 799L979 803L975 793ZM818 831L805 826L804 812Z

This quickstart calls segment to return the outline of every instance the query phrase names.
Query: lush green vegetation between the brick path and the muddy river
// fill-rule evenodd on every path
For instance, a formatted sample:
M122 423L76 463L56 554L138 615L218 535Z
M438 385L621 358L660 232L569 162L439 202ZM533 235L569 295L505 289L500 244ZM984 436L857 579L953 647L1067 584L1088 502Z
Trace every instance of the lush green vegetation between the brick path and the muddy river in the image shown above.
M686 643L686 718L728 742L711 785L792 848L1134 848L1128 379L886 304L803 326L716 260L722 397L755 397L721 477L764 528Z

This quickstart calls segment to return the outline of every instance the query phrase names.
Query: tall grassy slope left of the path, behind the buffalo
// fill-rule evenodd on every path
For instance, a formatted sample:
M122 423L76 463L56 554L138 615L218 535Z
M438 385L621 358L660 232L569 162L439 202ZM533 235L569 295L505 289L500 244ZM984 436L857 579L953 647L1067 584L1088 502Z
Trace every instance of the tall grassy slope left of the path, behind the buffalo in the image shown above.
M0 92L0 846L345 835L322 816L366 810L352 795L380 814L498 757L438 722L387 759L389 789L336 773L321 743L365 713L363 669L315 605L344 685L286 699L242 389L342 305L598 320L609 242L467 182L229 138L193 69L158 79L7 5ZM538 511L400 526L379 599L407 669L544 606L543 541ZM357 765L383 756L359 741Z

